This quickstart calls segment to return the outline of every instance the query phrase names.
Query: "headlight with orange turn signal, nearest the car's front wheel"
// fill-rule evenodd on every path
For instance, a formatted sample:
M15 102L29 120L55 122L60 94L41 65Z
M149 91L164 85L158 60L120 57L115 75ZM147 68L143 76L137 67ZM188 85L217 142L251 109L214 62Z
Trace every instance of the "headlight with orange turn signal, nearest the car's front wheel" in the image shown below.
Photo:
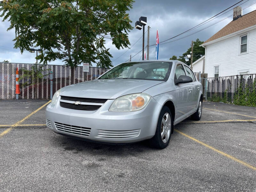
M109 111L138 111L147 106L151 96L145 93L135 93L117 98L109 108Z

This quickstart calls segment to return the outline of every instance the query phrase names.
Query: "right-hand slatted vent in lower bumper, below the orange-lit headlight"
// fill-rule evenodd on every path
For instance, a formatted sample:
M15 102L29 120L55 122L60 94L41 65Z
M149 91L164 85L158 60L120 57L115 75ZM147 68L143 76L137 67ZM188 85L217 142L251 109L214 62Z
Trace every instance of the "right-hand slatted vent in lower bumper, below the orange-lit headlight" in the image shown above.
M109 139L125 139L137 137L140 134L140 129L130 130L130 131L108 131L99 130L97 137L99 138L109 138Z

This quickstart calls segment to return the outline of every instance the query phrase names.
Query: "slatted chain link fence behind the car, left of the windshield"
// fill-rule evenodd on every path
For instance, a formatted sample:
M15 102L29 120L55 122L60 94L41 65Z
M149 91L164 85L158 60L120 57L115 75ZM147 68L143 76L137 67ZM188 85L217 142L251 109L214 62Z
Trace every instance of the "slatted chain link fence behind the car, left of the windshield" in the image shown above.
M71 68L63 65L37 65L24 63L0 63L0 99L15 99L16 68L19 75L26 70L40 68L42 78L25 77L20 79L20 99L50 99L50 72L53 72L53 93L73 83L91 81L108 71L108 68L90 67L83 72L83 67L76 67L71 76ZM24 70L22 70L24 69ZM72 79L71 79L72 78Z

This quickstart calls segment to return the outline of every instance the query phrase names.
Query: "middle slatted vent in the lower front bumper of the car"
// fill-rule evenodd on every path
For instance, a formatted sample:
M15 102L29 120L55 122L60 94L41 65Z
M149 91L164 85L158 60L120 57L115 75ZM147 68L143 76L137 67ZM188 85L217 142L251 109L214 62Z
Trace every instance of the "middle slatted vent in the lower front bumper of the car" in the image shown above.
M54 122L54 125L58 131L72 133L76 135L89 136L91 132L91 128L87 128L87 127L79 127L79 126L68 125L68 124L57 123L57 122Z

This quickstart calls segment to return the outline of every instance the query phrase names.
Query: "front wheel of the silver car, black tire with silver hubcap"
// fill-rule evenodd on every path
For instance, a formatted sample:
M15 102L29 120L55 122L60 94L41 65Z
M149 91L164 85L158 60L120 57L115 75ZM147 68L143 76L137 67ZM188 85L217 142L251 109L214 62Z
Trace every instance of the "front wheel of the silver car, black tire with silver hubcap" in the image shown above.
M168 107L164 106L160 112L155 136L150 140L154 148L163 149L169 144L172 134L172 114Z

